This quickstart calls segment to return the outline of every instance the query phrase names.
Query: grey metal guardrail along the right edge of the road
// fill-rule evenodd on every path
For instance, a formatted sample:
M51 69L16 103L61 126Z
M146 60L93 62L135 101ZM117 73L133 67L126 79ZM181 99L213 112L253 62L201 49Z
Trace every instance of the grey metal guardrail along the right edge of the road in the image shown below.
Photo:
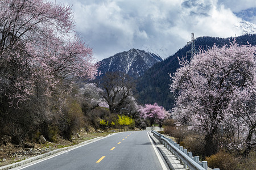
M177 158L183 163L184 168L189 168L191 170L205 170L208 168L207 161L199 162L199 156L192 156L192 152L188 152L187 149L183 148L176 142L172 141L172 139L164 137L162 134L153 131L152 133L154 137L156 137L163 145L167 148L167 150L171 151ZM215 168L213 170L220 170Z

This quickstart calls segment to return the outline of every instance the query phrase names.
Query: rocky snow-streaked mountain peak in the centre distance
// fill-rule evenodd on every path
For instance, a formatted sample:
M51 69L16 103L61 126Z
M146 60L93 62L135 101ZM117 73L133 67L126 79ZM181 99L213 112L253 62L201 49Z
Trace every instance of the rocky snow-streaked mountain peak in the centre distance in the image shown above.
M102 59L98 70L101 71L101 75L107 72L122 71L127 75L138 78L160 61L163 61L163 59L154 53L130 49L127 52L117 53L112 57Z

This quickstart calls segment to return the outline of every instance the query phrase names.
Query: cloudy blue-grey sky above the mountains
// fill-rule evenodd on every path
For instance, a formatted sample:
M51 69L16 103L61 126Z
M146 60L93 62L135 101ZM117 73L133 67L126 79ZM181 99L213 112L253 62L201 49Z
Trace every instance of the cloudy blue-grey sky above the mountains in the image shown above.
M55 1L55 0L51 0ZM241 35L255 0L56 0L72 5L76 31L100 61L132 48L166 58L195 37Z

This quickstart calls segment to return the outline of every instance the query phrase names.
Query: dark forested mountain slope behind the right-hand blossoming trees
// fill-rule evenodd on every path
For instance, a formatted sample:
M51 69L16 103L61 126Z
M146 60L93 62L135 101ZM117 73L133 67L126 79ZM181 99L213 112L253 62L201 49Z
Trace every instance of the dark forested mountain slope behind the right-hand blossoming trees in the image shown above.
M214 44L222 46L229 44L234 40L234 37L226 39L219 37L198 37L195 40L196 49L201 46L203 49L207 49ZM246 45L247 41L255 45L256 34L243 35L236 37L236 42L240 45ZM169 74L173 74L179 67L179 61L177 57L186 56L186 52L191 49L191 46L184 46L179 49L174 55L164 59L162 62L155 63L150 69L148 69L137 80L137 91L139 94L139 101L142 104L158 103L166 109L174 107L175 95L169 90L169 84L171 84ZM189 54L188 54L189 55ZM190 60L190 56L187 57Z

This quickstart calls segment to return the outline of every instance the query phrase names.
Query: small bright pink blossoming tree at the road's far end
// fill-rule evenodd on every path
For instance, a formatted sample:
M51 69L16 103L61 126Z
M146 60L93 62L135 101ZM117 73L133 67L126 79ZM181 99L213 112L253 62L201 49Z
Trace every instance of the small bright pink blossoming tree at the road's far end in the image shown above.
M170 116L170 114L157 103L154 103L153 105L145 104L144 107L139 109L139 113L141 118L150 120L150 125L158 123L160 124L160 127L162 127L164 119Z

